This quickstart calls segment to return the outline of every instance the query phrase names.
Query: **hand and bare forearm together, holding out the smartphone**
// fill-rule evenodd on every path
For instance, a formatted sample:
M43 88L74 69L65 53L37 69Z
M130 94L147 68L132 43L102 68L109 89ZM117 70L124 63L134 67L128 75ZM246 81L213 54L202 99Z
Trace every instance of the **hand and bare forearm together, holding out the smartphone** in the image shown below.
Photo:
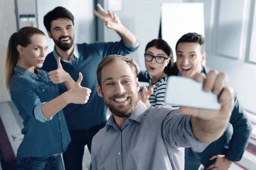
M204 91L212 91L218 95L220 110L206 110L199 108L180 107L180 113L191 115L194 136L202 142L213 142L218 139L227 127L234 108L233 88L227 85L224 73L210 71L207 76L203 73L195 74L195 81L204 81Z

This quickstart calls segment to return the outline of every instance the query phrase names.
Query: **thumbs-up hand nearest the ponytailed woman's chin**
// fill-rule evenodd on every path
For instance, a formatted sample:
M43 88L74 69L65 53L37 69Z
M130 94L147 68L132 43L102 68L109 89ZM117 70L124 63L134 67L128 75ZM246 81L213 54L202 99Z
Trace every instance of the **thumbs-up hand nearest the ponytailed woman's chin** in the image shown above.
M59 84L62 82L66 82L70 79L70 75L64 71L61 65L61 57L58 57L57 59L57 65L58 68L54 71L50 71L49 74L49 79L54 83L54 84Z

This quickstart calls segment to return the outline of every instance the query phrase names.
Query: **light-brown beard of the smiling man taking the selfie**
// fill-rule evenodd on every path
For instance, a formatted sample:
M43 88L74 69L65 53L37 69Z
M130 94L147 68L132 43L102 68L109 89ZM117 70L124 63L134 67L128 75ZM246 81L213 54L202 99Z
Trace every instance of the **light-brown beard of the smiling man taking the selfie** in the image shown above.
M103 95L104 97L104 95ZM115 98L125 98L127 97L127 95L123 94L123 95L115 95L111 97L111 100L115 99ZM109 110L111 111L111 113L113 113L115 116L117 117L129 117L131 115L132 112L134 112L135 106L137 105L139 98L138 97L134 97L133 95L129 96L130 98L130 102L127 106L125 105L119 105L118 108L116 108L115 106L111 105L111 103L107 103L105 100L105 105L109 108ZM123 109L124 107L126 107L125 109Z

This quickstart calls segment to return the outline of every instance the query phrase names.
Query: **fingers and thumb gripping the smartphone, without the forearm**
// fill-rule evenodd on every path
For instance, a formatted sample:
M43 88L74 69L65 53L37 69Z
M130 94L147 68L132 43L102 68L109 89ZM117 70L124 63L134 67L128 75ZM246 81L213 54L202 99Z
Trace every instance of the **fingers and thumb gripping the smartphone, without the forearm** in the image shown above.
M204 91L213 91L213 93L219 95L218 102L221 104L221 108L218 111L212 111L206 109L180 107L180 112L203 120L228 121L233 111L234 100L233 89L226 84L226 74L219 74L217 71L210 71L207 77L205 74L197 74L195 75L194 79L197 82L204 81Z

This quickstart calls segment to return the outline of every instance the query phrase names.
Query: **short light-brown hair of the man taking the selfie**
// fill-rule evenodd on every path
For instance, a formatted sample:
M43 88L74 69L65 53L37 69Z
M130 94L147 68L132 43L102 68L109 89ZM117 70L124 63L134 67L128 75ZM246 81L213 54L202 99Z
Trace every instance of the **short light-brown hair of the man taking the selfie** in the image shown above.
M133 71L134 76L137 77L136 66L134 65L134 62L131 61L131 59L128 59L128 58L126 58L122 55L116 55L116 54L109 55L109 56L105 57L104 59L102 59L102 61L99 63L98 68L97 68L97 79L98 79L99 87L102 87L102 82L101 82L102 69L106 65L109 65L109 64L111 64L113 62L116 62L116 61L125 61L131 67L131 70ZM113 71L115 71L115 68L113 68Z

